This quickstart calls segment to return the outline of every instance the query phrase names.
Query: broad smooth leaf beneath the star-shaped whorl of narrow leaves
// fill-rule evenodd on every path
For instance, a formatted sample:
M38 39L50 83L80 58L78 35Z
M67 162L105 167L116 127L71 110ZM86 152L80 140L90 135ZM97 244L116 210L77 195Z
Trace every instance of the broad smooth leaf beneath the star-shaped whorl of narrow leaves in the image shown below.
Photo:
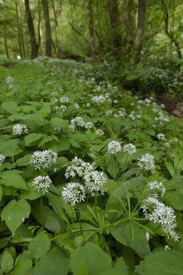
M118 223L115 226L110 226L108 227L108 230L120 243L130 246L141 254L142 257L148 255L150 253L150 247L144 231L133 221L132 224L134 229L133 237L131 223L129 220Z

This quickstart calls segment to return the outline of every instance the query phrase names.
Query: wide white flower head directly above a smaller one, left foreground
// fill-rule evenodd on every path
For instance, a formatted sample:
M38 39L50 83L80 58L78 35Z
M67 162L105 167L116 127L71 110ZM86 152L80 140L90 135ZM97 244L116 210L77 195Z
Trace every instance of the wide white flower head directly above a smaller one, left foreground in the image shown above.
M45 169L57 159L57 153L53 150L35 151L30 157L29 163L33 164L35 169Z

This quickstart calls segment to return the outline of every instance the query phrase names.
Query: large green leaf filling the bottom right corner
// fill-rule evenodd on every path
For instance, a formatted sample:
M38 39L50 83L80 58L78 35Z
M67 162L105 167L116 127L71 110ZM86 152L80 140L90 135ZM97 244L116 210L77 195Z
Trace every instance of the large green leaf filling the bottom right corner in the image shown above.
M141 275L182 275L183 251L168 250L154 251L136 266L136 271Z

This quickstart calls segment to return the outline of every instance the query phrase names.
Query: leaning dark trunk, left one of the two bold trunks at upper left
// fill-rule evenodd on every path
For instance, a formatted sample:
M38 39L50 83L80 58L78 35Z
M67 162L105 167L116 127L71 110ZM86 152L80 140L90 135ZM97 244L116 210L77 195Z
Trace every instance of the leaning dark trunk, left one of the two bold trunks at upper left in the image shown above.
M35 41L34 25L33 25L32 16L29 8L29 0L25 0L25 12L26 12L28 31L30 35L30 42L31 42L31 58L35 58L37 57L37 45Z

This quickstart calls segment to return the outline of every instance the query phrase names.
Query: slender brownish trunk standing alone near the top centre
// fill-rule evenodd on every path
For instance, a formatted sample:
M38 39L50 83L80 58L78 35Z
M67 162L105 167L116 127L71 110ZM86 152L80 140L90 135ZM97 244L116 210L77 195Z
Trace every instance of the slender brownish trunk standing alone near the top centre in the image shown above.
M92 0L88 0L88 18L89 18L89 30L90 30L90 45L91 45L91 57L92 62L96 61L96 52L95 52L95 36L93 30L93 14L92 14Z

